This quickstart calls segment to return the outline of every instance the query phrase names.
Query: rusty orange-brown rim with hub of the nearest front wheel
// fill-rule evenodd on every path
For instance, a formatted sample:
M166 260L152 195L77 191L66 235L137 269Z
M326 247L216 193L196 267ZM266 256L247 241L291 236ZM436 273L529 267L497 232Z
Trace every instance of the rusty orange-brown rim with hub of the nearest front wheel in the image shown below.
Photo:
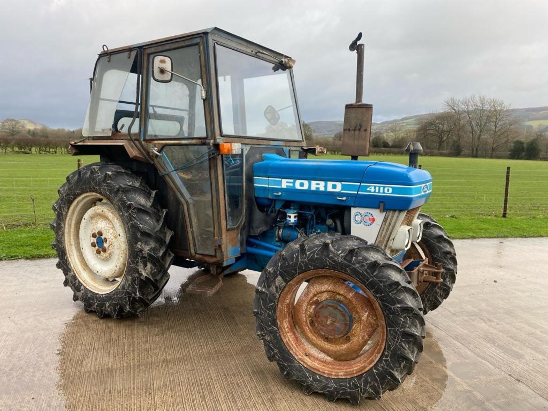
M386 343L383 311L373 294L355 278L333 270L293 278L279 296L277 322L295 359L330 378L367 372Z

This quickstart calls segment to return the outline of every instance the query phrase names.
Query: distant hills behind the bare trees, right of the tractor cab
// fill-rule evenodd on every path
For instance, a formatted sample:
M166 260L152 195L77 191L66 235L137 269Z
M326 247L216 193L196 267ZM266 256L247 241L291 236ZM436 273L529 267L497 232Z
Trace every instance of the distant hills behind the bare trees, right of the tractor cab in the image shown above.
M525 124L532 127L548 127L548 106L527 107L526 109L510 109L510 111ZM383 121L382 123L373 123L372 131L384 133L392 124L399 124L403 129L415 128L419 124L420 118L428 116L427 114L416 114L414 116L402 117L394 120ZM310 126L314 132L319 135L332 136L343 130L343 121L311 121Z

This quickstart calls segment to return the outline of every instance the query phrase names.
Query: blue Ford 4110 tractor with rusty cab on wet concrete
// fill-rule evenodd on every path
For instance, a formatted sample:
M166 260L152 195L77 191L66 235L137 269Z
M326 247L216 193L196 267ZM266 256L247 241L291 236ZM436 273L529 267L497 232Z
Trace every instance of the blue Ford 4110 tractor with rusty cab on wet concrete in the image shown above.
M260 271L253 314L266 357L305 394L380 398L413 372L424 315L453 288L455 249L420 213L431 175L362 161L373 107L344 114L342 154L307 158L295 60L219 28L109 49L90 78L52 247L73 299L121 318L162 293L170 265L199 267L187 293Z

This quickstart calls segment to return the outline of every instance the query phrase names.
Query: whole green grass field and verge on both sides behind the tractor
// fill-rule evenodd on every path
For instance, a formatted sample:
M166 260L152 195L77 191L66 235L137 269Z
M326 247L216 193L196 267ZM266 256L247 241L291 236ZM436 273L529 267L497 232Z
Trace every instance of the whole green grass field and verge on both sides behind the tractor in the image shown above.
M82 159L84 164L98 160ZM404 155L363 159L407 163ZM0 155L0 259L54 255L47 224L57 189L76 161L69 155ZM548 236L548 162L420 157L419 163L434 181L423 210L453 238ZM507 166L511 180L508 218L503 219Z

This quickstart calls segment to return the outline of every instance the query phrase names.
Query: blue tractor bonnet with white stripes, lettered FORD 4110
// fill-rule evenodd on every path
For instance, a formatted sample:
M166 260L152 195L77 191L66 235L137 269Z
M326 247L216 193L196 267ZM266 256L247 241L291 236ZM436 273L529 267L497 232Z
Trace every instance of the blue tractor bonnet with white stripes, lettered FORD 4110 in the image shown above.
M383 161L316 160L262 155L253 165L255 198L346 207L408 210L432 192L429 172Z

